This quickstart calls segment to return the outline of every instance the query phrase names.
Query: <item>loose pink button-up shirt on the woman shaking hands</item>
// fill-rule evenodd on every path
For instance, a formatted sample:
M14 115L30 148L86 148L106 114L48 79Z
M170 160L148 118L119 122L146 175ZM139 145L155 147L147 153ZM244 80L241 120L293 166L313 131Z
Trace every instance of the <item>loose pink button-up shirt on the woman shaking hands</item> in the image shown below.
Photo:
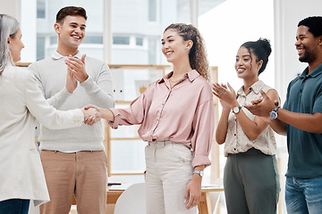
M139 135L144 141L171 140L191 147L192 167L210 165L208 158L214 132L214 103L211 88L197 70L191 70L170 86L169 78L150 84L130 107L111 109L112 128L140 124Z

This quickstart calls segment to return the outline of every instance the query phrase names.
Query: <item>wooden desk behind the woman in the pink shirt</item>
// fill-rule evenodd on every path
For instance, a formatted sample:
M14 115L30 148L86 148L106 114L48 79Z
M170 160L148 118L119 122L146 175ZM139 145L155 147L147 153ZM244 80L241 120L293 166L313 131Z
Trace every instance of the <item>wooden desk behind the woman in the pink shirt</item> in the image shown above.
M106 204L115 204L120 195L124 192L124 190L109 190L107 189L107 200ZM201 188L201 198L198 204L199 214L211 214L211 200L210 193L211 192L224 192L223 186L203 186ZM75 198L72 198L72 204L75 205Z

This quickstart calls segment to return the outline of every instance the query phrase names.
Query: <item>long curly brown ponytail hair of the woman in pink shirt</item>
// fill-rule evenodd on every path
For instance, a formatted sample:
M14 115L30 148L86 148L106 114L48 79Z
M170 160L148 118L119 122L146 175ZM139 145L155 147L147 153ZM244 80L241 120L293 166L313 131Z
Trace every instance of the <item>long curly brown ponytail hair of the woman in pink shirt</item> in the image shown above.
M193 42L189 53L189 62L191 64L191 69L197 70L203 78L208 80L209 66L207 60L207 52L199 30L191 24L184 23L171 24L166 27L165 31L168 29L174 29L183 38L184 41L191 40Z

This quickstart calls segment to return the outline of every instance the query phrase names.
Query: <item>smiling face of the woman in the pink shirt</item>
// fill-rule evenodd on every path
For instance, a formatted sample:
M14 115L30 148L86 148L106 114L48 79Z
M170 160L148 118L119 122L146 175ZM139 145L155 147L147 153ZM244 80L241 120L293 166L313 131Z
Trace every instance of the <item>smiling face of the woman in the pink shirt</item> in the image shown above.
M189 50L192 42L183 41L182 37L174 29L165 31L162 43L162 53L164 53L167 62L178 62L183 58L189 60Z

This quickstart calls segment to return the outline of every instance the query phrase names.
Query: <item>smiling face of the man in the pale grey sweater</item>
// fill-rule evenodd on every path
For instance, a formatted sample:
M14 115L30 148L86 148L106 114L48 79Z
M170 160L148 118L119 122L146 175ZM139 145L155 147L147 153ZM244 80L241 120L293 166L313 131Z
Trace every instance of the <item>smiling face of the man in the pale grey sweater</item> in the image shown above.
M63 23L55 23L58 49L78 49L85 37L86 20L82 16L68 15Z

